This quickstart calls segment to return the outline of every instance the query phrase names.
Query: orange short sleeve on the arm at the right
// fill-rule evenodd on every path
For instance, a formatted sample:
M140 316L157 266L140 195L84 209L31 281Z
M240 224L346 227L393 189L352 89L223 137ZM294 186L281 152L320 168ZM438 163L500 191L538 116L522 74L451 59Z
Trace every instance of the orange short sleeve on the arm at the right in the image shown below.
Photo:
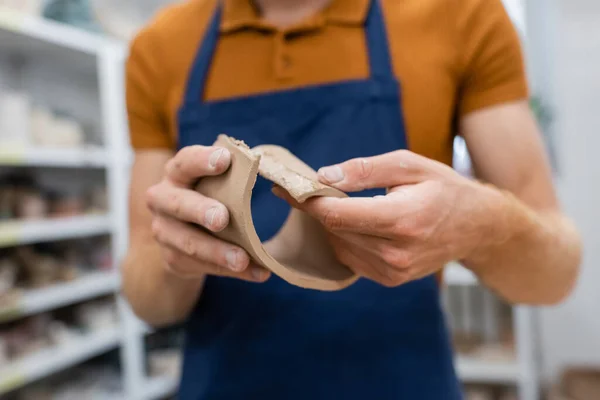
M501 0L459 0L462 68L458 113L527 99L521 41Z

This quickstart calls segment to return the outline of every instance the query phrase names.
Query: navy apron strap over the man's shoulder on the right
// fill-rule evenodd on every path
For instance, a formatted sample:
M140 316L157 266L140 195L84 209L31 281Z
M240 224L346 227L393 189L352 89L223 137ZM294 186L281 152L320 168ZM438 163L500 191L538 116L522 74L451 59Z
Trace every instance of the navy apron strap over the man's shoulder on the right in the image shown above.
M369 49L369 65L371 77L374 79L395 79L389 53L385 18L379 0L371 0L367 16L365 34Z

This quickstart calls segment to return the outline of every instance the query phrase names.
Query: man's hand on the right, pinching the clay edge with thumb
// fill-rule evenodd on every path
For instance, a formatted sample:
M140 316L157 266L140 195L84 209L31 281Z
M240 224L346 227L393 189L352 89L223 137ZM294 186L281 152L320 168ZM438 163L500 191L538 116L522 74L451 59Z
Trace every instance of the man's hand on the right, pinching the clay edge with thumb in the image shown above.
M385 286L431 275L494 240L499 192L410 151L322 168L319 179L344 192L387 189L385 196L303 204L274 190L325 226L340 262Z

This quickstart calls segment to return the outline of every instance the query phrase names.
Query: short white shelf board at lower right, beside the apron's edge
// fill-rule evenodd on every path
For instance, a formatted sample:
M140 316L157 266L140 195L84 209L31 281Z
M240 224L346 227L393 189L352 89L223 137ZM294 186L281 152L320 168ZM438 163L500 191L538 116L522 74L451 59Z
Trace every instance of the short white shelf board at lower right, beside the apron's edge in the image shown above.
M458 356L456 370L465 383L515 384L520 375L516 361L489 361L467 356Z

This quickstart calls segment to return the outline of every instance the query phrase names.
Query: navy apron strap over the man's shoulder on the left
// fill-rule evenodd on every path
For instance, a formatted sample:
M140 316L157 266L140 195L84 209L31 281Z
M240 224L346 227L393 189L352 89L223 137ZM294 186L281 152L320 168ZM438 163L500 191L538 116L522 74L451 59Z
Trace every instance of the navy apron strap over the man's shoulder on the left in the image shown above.
M215 14L210 26L204 35L204 40L202 41L200 50L196 55L196 60L194 60L185 92L186 103L203 101L206 78L208 77L208 71L210 70L210 66L212 64L213 54L219 41L220 24L221 2L219 2L219 5L217 5L217 9L215 10Z

